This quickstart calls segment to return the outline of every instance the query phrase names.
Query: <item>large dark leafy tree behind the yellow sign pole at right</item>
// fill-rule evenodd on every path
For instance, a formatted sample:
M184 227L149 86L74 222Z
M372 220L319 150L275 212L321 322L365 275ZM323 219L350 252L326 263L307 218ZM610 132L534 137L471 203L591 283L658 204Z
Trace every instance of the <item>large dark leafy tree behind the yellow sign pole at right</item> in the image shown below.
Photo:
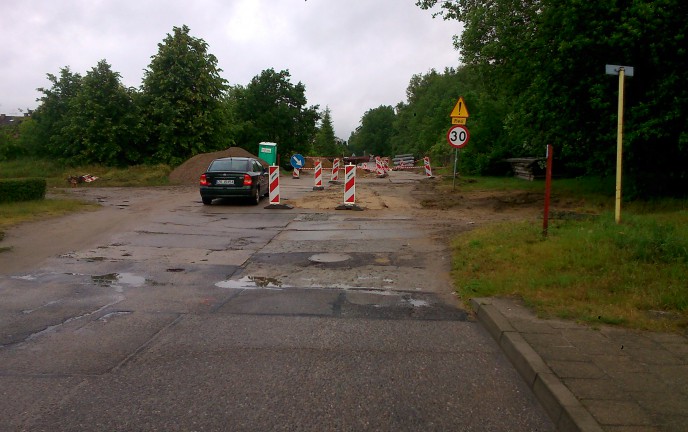
M627 82L625 167L638 195L685 194L688 166L688 3L681 0L422 0L458 19L465 63L511 101L502 125L513 155L554 144L583 171L614 170L617 81L605 64L635 67Z

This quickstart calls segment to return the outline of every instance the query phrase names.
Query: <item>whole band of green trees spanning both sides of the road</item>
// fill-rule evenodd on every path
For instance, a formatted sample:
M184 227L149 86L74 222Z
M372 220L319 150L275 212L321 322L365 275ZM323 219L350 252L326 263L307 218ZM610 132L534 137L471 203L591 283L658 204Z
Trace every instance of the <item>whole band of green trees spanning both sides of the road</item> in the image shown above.
M74 163L176 165L201 152L260 141L291 154L429 155L449 162L449 113L469 107L461 171L504 174L509 157L544 156L571 175L611 176L616 161L618 78L606 64L634 67L626 80L626 196L685 196L688 180L688 2L682 0L418 0L455 20L461 64L410 78L406 100L371 108L346 145L329 108L309 106L289 71L268 69L228 86L207 44L174 28L159 44L140 89L125 88L104 60L85 76L68 67L3 148ZM15 134L17 135L17 134ZM13 136L15 136L13 135Z

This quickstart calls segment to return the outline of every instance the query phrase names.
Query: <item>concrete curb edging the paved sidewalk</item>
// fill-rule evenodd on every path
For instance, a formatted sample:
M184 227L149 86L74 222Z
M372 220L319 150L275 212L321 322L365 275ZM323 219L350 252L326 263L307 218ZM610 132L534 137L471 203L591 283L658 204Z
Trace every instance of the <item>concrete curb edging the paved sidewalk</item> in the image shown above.
M602 432L603 429L533 350L489 298L471 299L478 321L492 335L511 364L538 398L557 430Z

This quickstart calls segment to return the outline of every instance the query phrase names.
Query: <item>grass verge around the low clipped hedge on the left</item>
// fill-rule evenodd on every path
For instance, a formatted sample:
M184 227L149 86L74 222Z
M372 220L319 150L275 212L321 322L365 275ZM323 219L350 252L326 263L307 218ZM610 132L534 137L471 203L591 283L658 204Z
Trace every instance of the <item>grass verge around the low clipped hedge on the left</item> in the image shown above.
M92 203L70 199L61 189L68 187L67 177L90 174L98 177L94 183L79 187L121 187L167 185L170 169L164 165L111 168L102 166L65 167L48 160L18 160L0 162L0 178L45 178L48 196L41 201L0 203L0 241L4 229L21 222L61 216L75 211L93 210ZM0 244L0 252L3 247Z

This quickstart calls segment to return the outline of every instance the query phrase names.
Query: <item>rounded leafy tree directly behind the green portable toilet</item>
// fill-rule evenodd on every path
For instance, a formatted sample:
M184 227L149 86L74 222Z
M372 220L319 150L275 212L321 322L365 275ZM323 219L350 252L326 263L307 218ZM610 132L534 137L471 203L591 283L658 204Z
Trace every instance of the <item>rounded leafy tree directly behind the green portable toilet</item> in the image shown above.
M235 89L238 145L257 154L258 143L275 142L283 162L312 146L318 106L307 106L305 85L292 84L290 78L288 70L266 69L245 88Z

